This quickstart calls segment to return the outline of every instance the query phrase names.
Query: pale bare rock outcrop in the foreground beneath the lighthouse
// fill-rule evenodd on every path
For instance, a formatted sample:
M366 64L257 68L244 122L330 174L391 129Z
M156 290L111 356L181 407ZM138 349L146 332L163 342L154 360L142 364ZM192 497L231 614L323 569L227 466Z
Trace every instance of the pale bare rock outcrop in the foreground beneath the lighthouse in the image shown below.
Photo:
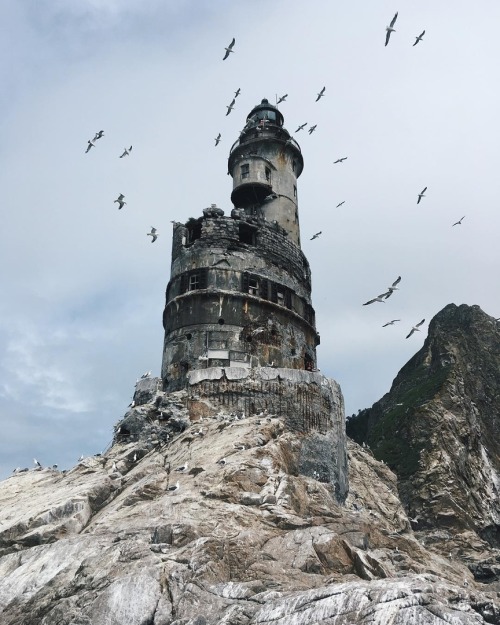
M284 419L151 399L104 456L0 484L2 625L499 622L496 592L419 542L369 451L349 444L341 506L299 474Z

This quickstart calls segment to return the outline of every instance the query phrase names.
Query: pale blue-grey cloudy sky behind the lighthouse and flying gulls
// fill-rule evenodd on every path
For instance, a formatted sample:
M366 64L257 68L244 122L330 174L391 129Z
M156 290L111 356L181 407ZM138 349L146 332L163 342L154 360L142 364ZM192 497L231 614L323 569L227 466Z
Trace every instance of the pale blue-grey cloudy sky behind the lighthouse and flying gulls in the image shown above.
M264 97L288 93L288 130L317 124L295 135L301 232L319 366L347 414L387 392L446 304L500 316L500 3L452 5L0 4L0 477L101 451L136 378L159 374L170 221L230 211L228 151Z

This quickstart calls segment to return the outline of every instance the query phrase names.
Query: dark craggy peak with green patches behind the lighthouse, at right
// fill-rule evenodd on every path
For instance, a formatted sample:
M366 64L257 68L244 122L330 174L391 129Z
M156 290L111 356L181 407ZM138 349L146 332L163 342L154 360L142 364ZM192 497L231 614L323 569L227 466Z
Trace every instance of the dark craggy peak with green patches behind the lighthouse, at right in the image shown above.
M347 432L395 471L414 530L498 582L500 323L478 306L446 306L390 392Z

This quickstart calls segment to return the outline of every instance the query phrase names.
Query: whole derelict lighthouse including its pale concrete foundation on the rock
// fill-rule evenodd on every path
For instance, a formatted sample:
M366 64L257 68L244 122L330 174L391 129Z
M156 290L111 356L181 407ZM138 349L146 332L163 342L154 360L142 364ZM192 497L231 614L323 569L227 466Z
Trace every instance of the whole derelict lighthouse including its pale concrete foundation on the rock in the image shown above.
M251 416L264 410L303 433L301 471L347 492L338 385L317 371L311 272L300 248L297 179L304 161L267 100L232 146L230 216L215 205L174 225L163 313L165 392L187 389Z

